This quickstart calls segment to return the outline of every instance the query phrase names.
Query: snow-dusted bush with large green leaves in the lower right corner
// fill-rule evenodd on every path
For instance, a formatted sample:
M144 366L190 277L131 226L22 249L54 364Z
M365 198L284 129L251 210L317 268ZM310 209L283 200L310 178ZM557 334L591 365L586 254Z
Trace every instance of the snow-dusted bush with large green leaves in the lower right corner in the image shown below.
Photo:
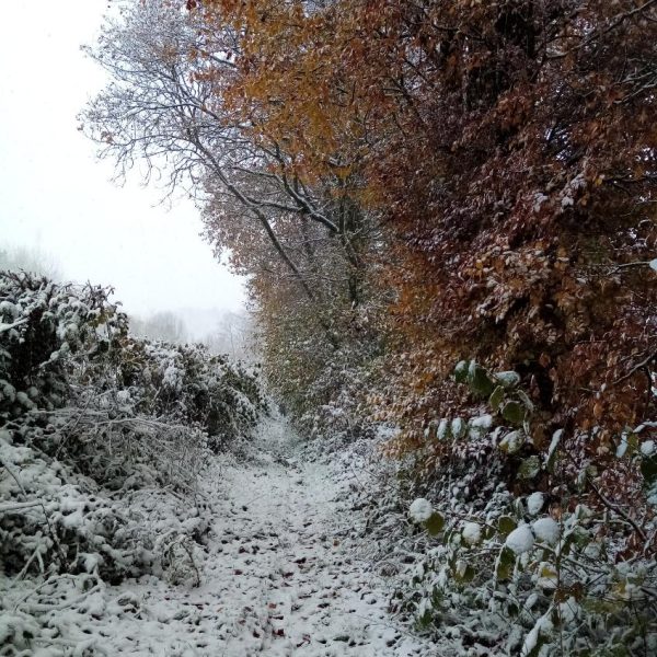
M414 563L397 610L453 654L655 654L654 424L596 464L578 461L577 442L596 434L537 431L548 418L514 372L462 362L456 378L486 403L428 423L400 468L406 521L385 512L402 530L393 551Z

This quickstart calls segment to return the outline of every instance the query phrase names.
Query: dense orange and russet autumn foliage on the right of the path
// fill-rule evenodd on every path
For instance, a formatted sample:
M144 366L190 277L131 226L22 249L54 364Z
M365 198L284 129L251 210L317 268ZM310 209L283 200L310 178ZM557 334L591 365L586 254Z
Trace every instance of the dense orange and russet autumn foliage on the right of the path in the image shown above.
M650 416L654 2L199 11L241 35L222 99L254 138L285 143L304 180L339 181L394 237L388 415L407 445L453 411L463 357L521 373L538 445L565 427L600 456Z

